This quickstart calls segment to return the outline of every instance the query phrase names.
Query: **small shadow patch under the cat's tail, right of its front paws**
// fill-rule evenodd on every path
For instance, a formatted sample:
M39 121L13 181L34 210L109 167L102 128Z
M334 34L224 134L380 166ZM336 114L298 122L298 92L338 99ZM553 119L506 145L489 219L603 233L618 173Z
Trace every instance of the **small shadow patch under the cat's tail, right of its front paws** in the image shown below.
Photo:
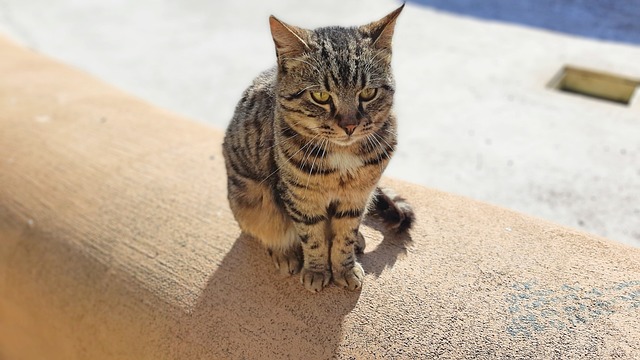
M380 276L382 272L395 265L396 261L407 256L407 247L413 242L408 232L396 233L387 229L382 221L374 216L367 216L363 225L382 234L383 238L375 248L367 241L364 254L358 256L365 273Z

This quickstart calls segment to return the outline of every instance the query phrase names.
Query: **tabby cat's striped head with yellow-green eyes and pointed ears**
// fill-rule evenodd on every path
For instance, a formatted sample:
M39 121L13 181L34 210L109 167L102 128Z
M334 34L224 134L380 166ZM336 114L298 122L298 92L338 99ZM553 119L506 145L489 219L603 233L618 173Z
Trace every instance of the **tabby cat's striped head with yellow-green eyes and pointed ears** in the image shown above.
M296 132L350 145L388 121L396 9L360 27L306 30L271 17L278 109Z

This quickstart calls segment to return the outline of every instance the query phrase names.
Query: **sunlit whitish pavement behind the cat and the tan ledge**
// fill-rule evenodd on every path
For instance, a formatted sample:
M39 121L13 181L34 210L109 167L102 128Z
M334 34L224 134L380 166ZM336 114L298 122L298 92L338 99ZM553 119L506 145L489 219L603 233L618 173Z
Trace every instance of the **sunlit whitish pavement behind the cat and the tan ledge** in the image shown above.
M301 4L0 0L0 31L223 128L242 90L274 63L269 14L312 28L364 24L398 6ZM431 5L410 3L398 23L400 149L387 174L640 246L638 102L546 87L567 63L640 78L640 47Z

